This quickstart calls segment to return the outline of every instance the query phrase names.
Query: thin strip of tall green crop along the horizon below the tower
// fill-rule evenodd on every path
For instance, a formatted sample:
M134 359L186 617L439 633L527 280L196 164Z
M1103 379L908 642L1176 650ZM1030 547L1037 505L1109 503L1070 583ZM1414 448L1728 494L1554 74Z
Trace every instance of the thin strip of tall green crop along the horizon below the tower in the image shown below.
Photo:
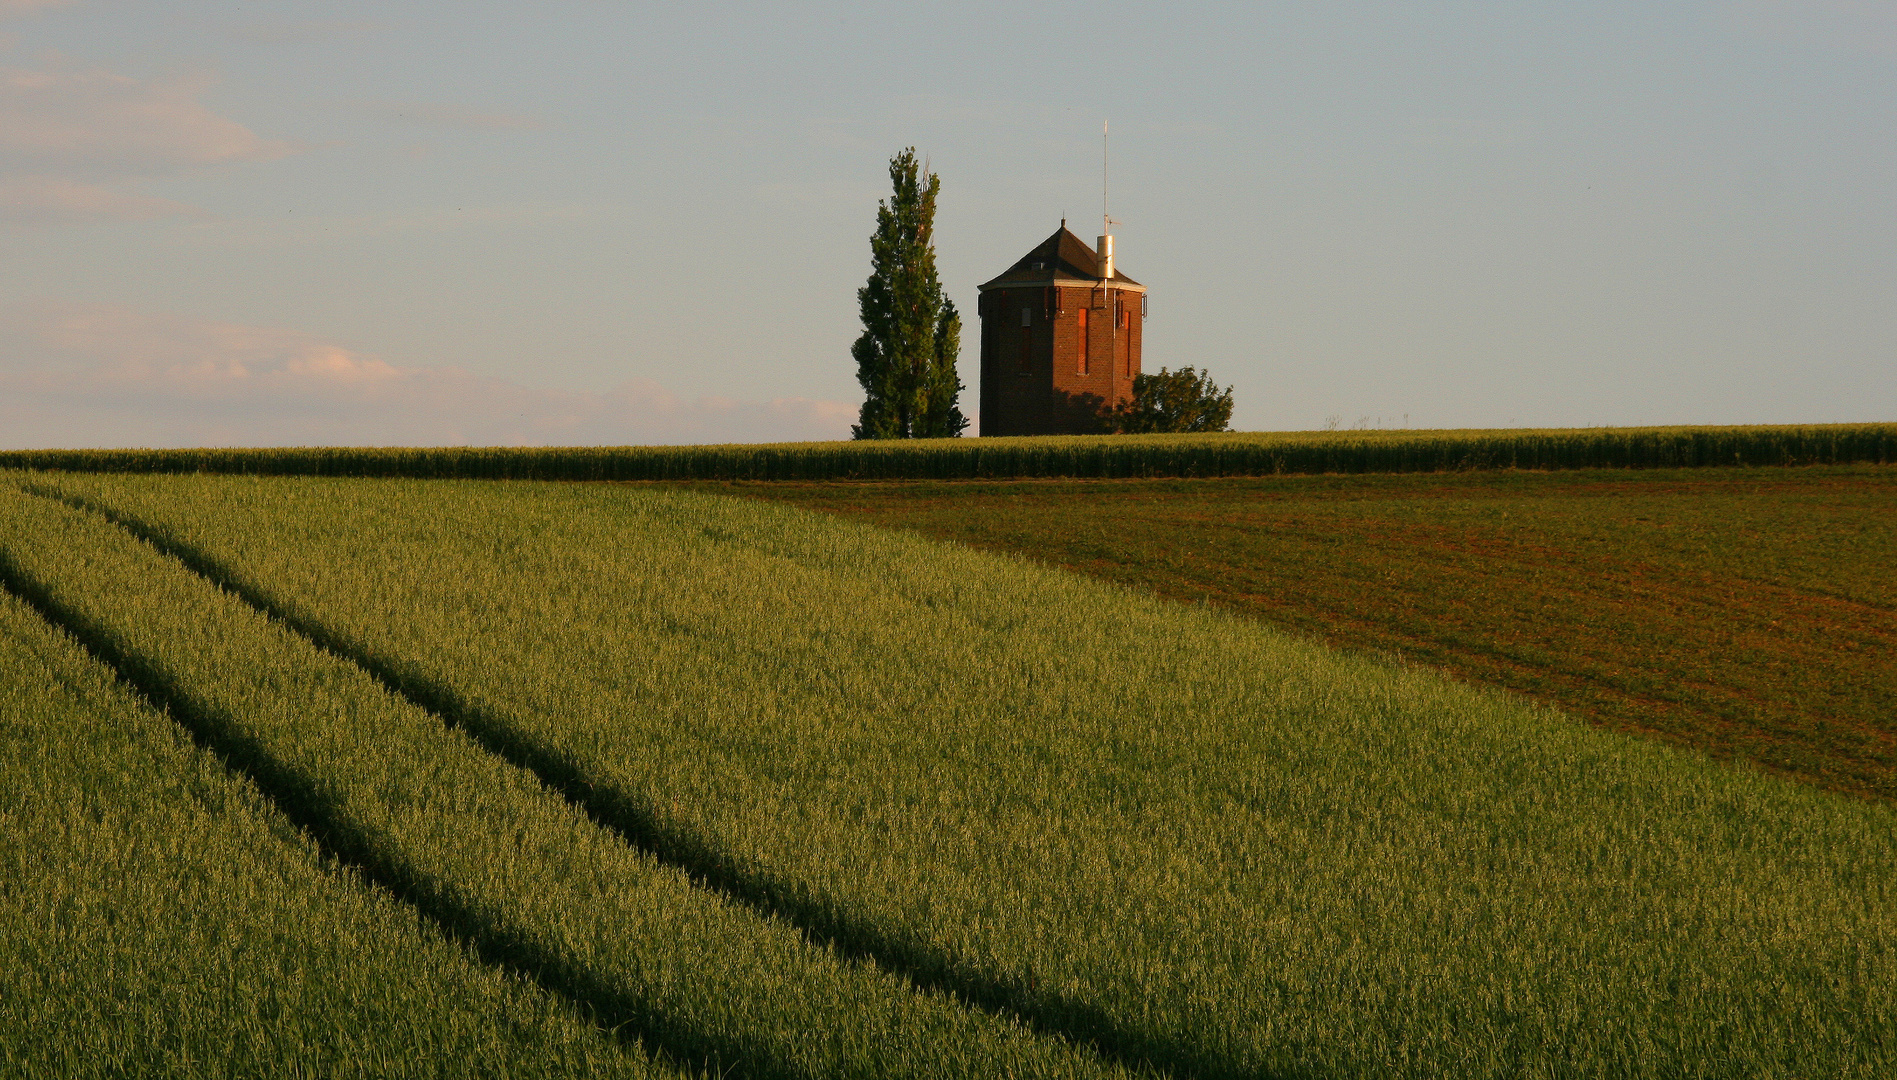
M493 480L1265 476L1891 461L1897 461L1897 423L1098 435L742 446L0 452L0 469Z

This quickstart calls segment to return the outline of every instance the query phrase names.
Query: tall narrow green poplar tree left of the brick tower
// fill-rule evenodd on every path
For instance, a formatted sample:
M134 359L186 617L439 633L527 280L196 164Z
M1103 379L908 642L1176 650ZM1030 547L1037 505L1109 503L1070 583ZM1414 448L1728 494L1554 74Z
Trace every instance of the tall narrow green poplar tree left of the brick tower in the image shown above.
M876 203L869 283L856 290L863 336L850 347L863 414L857 438L950 438L967 418L956 406L962 317L935 277L935 192L941 178L916 165L911 146L890 158L895 194Z

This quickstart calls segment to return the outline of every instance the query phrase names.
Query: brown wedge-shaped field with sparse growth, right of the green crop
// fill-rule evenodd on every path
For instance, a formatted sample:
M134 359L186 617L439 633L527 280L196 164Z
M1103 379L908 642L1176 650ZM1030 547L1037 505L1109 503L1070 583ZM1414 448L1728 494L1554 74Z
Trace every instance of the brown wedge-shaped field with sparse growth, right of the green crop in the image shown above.
M727 484L1897 799L1897 469Z

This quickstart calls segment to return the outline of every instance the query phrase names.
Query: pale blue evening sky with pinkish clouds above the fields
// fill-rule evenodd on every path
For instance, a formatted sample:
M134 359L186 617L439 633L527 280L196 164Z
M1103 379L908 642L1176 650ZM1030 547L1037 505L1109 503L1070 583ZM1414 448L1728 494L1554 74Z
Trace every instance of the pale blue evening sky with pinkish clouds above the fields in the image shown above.
M1897 419L1897 0L0 0L0 446L844 438L888 159L973 321L1102 121L1237 429Z

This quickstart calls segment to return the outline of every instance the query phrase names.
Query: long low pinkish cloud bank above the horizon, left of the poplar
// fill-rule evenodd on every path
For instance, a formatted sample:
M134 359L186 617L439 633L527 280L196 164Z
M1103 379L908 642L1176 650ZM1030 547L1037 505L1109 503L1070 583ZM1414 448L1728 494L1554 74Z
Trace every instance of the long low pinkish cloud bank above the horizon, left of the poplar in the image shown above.
M0 317L0 446L533 446L844 438L856 408L404 368L294 330L112 306Z

